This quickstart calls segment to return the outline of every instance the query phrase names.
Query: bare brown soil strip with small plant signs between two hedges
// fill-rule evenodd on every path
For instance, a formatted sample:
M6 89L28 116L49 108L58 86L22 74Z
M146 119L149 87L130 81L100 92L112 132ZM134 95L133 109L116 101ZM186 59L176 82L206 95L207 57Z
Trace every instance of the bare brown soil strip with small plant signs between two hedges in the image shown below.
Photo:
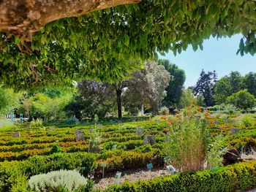
M107 174L104 178L95 178L94 188L107 188L108 185L114 184L115 175L116 174ZM150 180L151 177L155 178L165 175L170 175L170 172L167 170L167 168L152 169L151 174L147 169L130 169L121 173L120 184L124 183L125 180L128 180L132 183L138 180Z

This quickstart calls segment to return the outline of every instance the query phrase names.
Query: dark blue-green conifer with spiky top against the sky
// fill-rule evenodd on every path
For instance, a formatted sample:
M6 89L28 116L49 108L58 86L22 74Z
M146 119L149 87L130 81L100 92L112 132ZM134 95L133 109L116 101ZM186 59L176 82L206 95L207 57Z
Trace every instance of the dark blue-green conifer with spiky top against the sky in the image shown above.
M197 80L197 84L193 90L193 93L197 98L203 96L203 102L206 107L214 106L214 88L217 82L217 73L214 72L202 72L200 78Z

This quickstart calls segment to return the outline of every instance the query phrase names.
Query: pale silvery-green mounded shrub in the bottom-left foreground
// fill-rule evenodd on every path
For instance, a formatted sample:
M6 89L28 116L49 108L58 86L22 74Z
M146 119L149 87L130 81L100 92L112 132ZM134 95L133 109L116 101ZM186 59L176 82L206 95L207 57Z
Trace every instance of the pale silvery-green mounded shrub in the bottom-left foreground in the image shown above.
M87 179L76 171L59 170L37 174L29 179L32 191L80 191L87 185Z

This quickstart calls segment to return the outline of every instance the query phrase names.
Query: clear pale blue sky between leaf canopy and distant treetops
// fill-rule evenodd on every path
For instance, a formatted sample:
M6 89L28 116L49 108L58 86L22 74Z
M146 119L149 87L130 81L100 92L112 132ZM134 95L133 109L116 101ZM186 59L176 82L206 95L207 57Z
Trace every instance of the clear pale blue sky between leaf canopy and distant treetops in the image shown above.
M236 55L239 47L241 35L231 38L210 38L203 42L203 51L198 49L196 52L189 46L186 51L176 56L172 52L166 53L165 56L159 55L159 58L170 60L179 68L184 69L186 73L185 87L195 85L204 69L206 72L217 71L218 79L229 74L231 71L238 71L242 75L248 72L256 72L256 54L249 53Z

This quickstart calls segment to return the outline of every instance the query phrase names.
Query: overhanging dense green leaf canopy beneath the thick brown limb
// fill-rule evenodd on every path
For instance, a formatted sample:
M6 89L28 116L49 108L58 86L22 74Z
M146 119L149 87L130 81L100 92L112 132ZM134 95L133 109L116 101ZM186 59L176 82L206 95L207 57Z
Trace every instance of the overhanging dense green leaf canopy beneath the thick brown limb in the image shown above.
M140 60L203 40L243 34L238 53L256 53L256 2L141 1L63 18L45 25L26 41L0 34L0 82L15 88L71 84L89 79L123 80ZM58 10L56 10L58 12Z

